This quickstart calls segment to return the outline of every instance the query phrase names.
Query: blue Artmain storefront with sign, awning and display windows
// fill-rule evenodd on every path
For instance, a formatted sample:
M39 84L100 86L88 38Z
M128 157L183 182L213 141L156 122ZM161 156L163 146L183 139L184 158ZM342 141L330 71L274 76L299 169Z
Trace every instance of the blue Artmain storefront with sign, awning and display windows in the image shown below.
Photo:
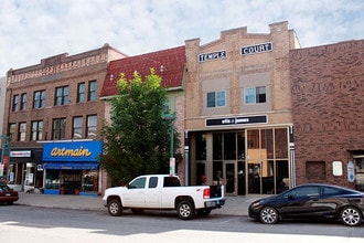
M101 141L44 144L44 193L97 196L101 154Z

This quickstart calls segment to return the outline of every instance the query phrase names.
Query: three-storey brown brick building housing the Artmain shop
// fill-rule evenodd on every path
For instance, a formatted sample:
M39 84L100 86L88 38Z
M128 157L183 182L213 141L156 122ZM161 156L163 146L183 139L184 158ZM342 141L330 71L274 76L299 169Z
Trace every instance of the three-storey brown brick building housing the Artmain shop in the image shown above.
M125 55L105 44L76 55L10 70L3 130L11 140L7 179L19 190L99 193L97 155L109 61Z

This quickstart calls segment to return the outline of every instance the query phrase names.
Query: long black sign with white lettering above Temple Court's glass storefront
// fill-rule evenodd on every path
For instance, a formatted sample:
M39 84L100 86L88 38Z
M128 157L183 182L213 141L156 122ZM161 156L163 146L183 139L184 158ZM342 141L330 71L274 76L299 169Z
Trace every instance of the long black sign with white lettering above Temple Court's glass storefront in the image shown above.
M240 116L226 118L206 119L206 127L211 126L235 126L242 124L266 124L267 115L264 116Z

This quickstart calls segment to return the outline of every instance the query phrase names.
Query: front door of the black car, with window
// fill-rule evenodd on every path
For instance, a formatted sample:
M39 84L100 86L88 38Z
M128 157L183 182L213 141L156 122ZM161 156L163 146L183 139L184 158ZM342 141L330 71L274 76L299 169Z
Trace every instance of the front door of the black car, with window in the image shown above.
M314 214L314 204L320 200L320 187L298 187L282 196L280 212L282 216L308 216Z

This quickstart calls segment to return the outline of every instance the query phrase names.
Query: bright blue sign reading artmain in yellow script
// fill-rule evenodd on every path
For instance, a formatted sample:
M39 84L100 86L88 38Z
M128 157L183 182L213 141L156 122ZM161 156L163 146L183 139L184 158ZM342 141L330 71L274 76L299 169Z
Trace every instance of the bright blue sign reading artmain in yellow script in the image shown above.
M97 161L101 141L49 142L43 146L43 161Z

